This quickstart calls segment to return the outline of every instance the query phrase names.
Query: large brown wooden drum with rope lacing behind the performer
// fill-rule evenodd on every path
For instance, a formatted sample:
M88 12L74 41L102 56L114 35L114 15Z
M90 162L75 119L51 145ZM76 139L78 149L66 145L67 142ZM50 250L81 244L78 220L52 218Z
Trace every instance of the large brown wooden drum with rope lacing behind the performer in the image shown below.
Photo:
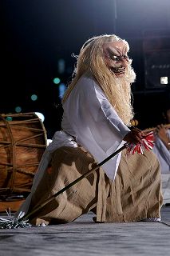
M0 114L0 211L30 193L46 143L36 114Z

